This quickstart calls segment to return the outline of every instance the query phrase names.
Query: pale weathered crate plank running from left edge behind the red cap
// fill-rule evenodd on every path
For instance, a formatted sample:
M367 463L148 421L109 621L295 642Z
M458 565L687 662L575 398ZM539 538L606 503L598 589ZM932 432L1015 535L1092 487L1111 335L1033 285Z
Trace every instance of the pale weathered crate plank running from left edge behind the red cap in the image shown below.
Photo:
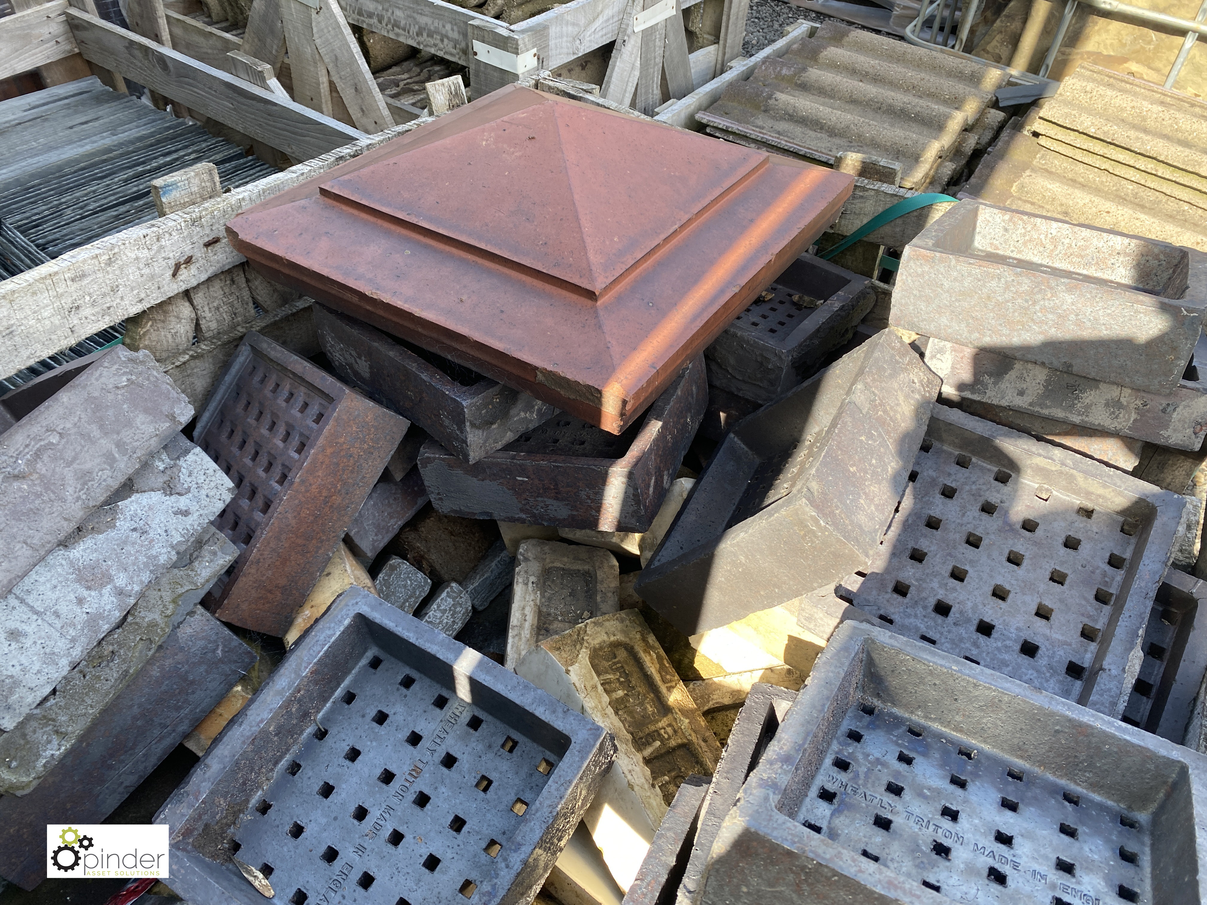
M245 258L226 239L225 224L235 214L427 122L416 119L349 144L0 281L0 374L75 345L243 263Z

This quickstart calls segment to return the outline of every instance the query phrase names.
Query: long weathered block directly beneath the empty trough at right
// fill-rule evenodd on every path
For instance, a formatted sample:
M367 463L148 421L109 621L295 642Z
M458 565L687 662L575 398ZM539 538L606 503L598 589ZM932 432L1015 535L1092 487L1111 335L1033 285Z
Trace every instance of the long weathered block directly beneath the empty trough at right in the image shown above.
M944 396L960 399L962 405L973 402L1014 409L1185 450L1199 449L1207 430L1207 370L1201 370L1207 368L1203 345L1196 349L1191 367L1167 396L933 337L927 341L926 363L943 378ZM972 409L969 414L986 416Z

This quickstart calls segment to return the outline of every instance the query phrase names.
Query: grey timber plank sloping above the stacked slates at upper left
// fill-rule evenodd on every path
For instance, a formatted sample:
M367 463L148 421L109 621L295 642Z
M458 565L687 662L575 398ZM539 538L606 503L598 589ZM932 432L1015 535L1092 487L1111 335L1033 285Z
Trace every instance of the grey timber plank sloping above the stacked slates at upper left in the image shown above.
M357 129L94 16L69 8L66 17L84 59L116 69L295 159L309 159L366 138Z

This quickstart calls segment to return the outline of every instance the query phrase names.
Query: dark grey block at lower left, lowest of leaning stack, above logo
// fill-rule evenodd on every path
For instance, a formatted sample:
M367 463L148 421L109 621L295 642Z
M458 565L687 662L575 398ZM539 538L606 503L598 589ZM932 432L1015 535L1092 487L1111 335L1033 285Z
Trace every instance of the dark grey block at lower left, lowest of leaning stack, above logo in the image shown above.
M48 816L101 823L253 660L229 629L193 607L37 788L0 798L0 876L37 886Z

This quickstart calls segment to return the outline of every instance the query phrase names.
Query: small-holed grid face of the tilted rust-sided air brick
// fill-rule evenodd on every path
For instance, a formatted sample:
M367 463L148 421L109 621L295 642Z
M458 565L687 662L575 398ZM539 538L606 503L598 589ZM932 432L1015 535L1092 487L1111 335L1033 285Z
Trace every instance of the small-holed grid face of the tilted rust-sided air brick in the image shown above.
M257 351L247 357L234 392L198 443L234 483L234 498L214 526L240 553L264 524L290 475L305 461L311 442L326 427L331 404L330 396ZM221 584L214 592L221 592Z

